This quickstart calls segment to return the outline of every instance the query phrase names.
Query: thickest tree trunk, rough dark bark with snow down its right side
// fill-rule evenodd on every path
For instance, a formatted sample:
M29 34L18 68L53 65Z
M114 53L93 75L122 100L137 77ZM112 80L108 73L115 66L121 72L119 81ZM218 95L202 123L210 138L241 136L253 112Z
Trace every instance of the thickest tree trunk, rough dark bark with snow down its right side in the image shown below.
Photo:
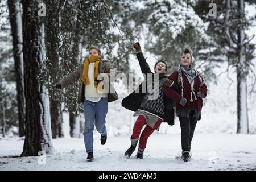
M39 151L53 152L48 91L40 82L45 58L43 17L38 15L42 1L23 0L23 56L26 98L26 132L22 156Z

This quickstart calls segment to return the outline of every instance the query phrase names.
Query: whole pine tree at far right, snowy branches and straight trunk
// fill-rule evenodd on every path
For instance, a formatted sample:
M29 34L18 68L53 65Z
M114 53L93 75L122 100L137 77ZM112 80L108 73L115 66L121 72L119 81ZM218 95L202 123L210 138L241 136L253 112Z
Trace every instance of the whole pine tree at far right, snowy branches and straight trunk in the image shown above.
M247 114L247 83L246 78L249 72L254 72L251 68L253 51L255 45L251 44L251 37L246 34L246 30L252 23L246 18L245 2L253 1L222 1L217 3L217 15L208 15L205 6L210 1L198 2L195 6L197 14L205 22L209 22L209 34L212 35L214 43L217 45L213 52L209 52L216 57L221 57L221 61L227 61L229 66L237 71L237 133L249 133L249 119Z

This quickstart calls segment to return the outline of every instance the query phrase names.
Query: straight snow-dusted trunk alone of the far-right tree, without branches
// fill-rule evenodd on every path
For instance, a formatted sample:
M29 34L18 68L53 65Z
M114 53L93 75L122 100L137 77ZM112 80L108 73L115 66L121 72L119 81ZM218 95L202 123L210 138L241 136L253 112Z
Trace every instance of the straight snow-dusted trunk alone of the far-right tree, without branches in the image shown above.
M245 17L245 2L238 0L239 19L242 22ZM238 64L237 64L237 133L249 133L248 108L247 108L247 84L246 84L246 58L245 58L245 28L238 26Z

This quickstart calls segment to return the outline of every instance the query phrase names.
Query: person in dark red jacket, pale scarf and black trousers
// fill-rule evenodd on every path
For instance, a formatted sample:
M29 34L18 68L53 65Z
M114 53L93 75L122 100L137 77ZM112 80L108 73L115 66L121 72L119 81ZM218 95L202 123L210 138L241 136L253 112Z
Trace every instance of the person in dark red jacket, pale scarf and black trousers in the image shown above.
M174 81L179 85L179 92L164 86L166 96L176 102L177 117L179 117L181 127L182 159L184 162L191 159L189 155L191 141L196 123L201 119L202 98L207 96L207 85L191 63L191 53L188 49L185 49L181 55L177 71L173 72L165 81Z

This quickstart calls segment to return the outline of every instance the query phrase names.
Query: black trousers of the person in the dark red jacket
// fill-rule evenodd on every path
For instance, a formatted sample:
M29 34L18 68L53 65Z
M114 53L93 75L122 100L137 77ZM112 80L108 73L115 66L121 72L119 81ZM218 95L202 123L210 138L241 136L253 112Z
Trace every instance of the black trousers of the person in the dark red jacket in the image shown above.
M188 118L179 117L182 151L190 151L191 149L191 141L198 121L198 118L193 118L194 113L195 110L191 110Z

